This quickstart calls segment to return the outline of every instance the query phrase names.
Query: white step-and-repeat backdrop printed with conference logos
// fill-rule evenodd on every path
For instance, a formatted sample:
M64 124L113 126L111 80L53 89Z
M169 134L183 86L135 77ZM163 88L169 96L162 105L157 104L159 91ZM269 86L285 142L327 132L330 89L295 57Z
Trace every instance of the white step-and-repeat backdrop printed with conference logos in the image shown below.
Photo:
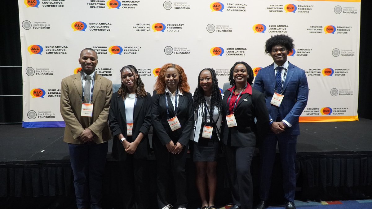
M219 86L237 61L254 74L272 58L264 44L286 34L288 60L306 71L301 122L358 120L360 0L19 0L23 127L63 127L61 79L80 72L80 51L98 54L96 72L120 84L134 65L152 93L160 67L182 66L194 91L203 68Z

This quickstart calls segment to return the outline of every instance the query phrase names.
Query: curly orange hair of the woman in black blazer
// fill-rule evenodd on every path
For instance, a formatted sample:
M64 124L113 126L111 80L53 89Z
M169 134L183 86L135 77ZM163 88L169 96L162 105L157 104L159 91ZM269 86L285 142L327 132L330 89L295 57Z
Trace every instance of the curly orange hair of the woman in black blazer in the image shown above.
M156 90L156 93L163 94L165 92L165 87L166 87L166 84L164 82L165 72L167 71L168 68L171 68L171 67L176 68L176 70L179 73L180 80L178 82L178 89L181 92L189 93L190 86L189 86L189 83L187 83L187 77L185 74L185 70L183 70L183 68L180 65L176 65L173 63L165 64L163 65L163 67L160 68L158 78L156 79L155 84L154 84L154 90Z

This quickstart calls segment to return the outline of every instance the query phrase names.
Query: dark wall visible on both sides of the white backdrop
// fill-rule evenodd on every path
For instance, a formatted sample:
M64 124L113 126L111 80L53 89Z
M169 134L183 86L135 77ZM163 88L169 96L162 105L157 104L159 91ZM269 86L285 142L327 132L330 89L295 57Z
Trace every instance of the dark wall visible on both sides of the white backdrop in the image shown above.
M0 66L21 66L19 14L17 1L1 1L0 7ZM360 118L372 119L372 1L361 2L359 53L359 105ZM22 122L22 68L0 67L0 123Z

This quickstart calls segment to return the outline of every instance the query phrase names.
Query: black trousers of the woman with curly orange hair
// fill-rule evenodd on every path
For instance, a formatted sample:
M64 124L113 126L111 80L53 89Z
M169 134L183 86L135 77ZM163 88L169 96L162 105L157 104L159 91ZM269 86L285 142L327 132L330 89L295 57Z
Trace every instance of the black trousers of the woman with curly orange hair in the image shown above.
M173 141L176 144L176 141ZM174 208L186 208L187 206L187 183L186 183L186 155L187 146L183 146L180 154L168 152L167 147L162 145L159 140L153 140L153 149L156 157L156 183L157 183L157 201L161 209L168 204L174 204ZM169 180L174 180L174 190L176 201L168 202Z

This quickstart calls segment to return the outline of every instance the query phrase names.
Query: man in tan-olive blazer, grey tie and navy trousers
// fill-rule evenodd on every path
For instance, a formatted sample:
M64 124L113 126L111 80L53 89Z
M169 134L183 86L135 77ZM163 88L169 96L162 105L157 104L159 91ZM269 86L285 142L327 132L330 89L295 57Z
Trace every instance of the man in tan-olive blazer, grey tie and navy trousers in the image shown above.
M98 58L93 49L81 51L78 61L82 72L63 78L61 82L60 110L66 123L63 141L68 143L70 151L77 207L100 208L107 141L111 138L107 121L112 82L95 73ZM93 101L92 117L81 116L86 76L94 79L88 88L93 89L93 95L84 90L93 97L89 99ZM91 101L84 99L84 103Z

